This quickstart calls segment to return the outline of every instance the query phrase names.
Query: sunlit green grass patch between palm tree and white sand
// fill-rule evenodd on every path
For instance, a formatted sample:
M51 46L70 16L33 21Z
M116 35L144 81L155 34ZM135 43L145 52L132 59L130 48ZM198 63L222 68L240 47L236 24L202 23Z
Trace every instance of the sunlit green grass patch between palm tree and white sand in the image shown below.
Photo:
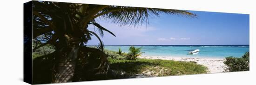
M125 54L118 55L118 52L105 50L109 55L108 61L112 70L126 73L133 77L138 74L144 76L173 76L207 73L207 67L187 61L172 61L160 59L137 59L126 60Z

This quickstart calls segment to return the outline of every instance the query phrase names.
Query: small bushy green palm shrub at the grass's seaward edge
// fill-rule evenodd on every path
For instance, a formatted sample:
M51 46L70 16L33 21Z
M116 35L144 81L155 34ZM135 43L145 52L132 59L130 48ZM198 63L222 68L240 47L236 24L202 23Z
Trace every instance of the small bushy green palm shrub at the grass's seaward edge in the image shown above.
M141 56L141 54L144 53L141 52L141 48L135 48L134 46L131 46L129 51L130 52L126 56L127 60L136 60L138 56Z

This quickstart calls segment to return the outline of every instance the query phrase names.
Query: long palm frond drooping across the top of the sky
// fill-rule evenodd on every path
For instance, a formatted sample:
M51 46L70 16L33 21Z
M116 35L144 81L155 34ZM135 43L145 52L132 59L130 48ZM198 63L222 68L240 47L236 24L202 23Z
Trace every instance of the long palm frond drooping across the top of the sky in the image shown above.
M196 15L191 12L173 9L157 9L157 8L142 8L128 6L110 6L105 8L99 15L103 18L110 18L114 23L120 25L135 25L139 26L142 23L149 24L149 16L159 16L161 13L172 15L181 15L190 18L195 18ZM99 16L98 15L98 16Z

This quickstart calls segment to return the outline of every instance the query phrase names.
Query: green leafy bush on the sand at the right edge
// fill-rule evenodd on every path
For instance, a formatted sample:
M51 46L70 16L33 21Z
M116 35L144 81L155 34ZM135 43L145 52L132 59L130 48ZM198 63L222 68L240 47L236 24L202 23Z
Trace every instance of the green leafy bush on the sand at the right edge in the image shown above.
M226 57L224 64L227 65L225 72L249 71L249 52L246 52L242 58Z

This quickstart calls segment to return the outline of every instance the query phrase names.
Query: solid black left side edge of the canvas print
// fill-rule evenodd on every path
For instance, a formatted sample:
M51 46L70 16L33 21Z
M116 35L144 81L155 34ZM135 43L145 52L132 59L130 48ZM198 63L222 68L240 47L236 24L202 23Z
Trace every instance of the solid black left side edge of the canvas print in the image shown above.
M23 78L32 83L32 2L23 4Z

